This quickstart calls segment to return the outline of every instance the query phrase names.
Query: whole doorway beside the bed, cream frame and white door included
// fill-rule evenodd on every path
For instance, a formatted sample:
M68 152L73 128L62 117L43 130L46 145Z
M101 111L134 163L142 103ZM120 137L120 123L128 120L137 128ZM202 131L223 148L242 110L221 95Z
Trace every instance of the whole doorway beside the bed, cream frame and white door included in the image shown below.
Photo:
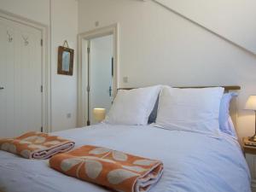
M78 44L78 126L93 125L93 109L108 113L118 88L118 24L80 33Z

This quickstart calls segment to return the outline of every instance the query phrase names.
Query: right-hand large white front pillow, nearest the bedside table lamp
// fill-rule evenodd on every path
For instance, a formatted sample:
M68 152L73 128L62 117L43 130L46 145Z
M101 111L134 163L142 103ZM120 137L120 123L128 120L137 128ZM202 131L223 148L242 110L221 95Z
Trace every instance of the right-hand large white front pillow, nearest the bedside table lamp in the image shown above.
M224 89L177 89L163 86L160 91L156 125L167 129L217 134L218 113Z

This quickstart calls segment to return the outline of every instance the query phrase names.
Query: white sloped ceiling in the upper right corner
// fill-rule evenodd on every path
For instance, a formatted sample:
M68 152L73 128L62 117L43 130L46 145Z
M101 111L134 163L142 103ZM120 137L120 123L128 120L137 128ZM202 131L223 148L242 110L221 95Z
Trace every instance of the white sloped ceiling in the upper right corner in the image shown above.
M184 18L256 54L256 1L153 0Z

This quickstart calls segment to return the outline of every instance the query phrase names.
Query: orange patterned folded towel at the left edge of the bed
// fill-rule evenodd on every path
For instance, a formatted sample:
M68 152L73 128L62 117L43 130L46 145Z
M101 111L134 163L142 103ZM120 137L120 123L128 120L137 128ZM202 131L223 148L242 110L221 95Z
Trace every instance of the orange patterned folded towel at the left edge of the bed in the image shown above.
M67 152L73 146L74 143L67 139L34 131L20 137L0 139L1 150L19 154L26 159L48 159L54 154Z

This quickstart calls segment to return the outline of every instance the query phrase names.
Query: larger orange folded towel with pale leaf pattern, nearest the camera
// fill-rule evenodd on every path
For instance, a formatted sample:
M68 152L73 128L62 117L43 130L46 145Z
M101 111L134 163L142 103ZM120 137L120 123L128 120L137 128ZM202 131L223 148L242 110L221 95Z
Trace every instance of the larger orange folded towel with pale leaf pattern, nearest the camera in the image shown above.
M49 166L68 176L123 192L146 192L163 172L159 160L90 145L56 154Z

